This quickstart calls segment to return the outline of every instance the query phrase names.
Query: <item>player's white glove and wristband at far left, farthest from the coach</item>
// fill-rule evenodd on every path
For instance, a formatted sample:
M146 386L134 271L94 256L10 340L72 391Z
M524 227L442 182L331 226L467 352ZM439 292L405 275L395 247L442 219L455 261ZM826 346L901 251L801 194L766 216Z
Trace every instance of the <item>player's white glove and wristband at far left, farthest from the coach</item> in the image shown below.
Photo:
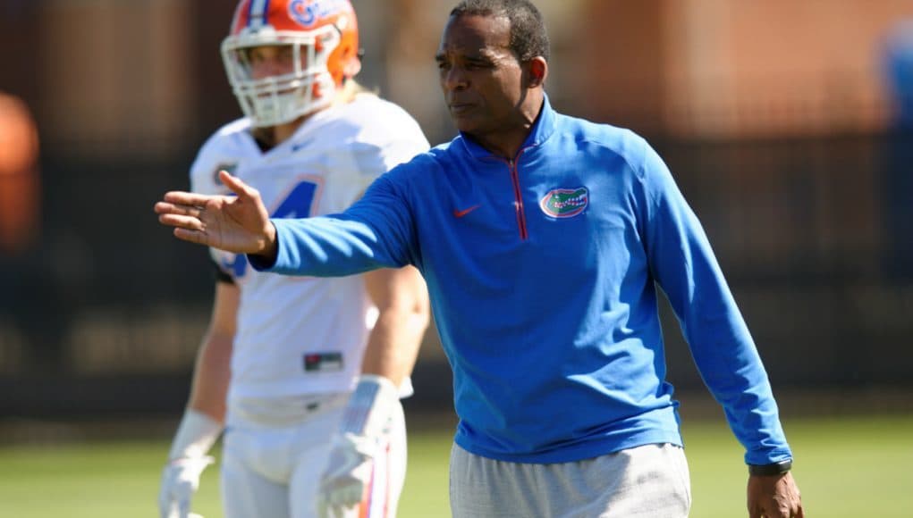
M215 459L206 455L222 432L222 424L202 412L187 409L174 435L169 459L162 471L159 514L162 518L194 518L190 503L200 487L200 475Z

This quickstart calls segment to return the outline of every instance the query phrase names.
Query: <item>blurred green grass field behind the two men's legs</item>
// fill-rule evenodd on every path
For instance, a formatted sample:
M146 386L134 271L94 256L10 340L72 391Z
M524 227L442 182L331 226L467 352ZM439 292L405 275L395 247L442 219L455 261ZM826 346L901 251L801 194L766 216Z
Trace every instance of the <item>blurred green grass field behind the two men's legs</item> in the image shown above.
M784 426L808 516L913 516L913 416L790 420ZM722 420L686 420L684 433L691 516L747 516L741 449ZM450 430L413 431L401 517L449 516L450 438ZM0 516L155 516L166 451L164 438L0 447ZM206 471L194 501L194 510L206 518L222 514L217 479L217 470Z

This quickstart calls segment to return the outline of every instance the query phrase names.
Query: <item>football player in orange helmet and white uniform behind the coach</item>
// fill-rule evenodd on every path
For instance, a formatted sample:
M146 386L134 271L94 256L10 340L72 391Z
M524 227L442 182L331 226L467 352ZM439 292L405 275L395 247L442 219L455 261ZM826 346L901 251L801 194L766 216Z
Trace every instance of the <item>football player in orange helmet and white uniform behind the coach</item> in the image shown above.
M353 80L348 0L242 0L222 56L244 118L205 142L194 192L227 193L226 170L256 186L272 217L341 212L428 149L414 119ZM223 430L227 517L394 516L399 398L429 319L421 276L410 266L280 277L253 271L244 254L211 255L215 302L163 471L162 516L188 515Z

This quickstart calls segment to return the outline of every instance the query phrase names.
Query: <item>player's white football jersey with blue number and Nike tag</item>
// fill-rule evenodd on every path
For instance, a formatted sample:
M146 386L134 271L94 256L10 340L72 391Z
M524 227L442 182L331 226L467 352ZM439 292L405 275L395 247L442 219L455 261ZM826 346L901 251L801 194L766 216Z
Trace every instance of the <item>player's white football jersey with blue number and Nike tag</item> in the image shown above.
M345 210L375 178L428 147L403 109L361 94L315 113L267 152L257 147L247 119L227 124L200 150L191 189L228 193L217 180L224 169L256 187L272 217L330 214ZM354 387L377 314L361 275L264 274L243 254L210 252L241 292L229 400Z

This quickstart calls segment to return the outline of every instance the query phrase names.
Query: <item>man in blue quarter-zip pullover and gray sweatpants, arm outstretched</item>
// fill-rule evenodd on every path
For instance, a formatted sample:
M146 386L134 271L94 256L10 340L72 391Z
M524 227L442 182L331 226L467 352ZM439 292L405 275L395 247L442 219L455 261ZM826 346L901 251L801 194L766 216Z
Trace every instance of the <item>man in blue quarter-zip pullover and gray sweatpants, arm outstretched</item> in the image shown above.
M456 517L687 516L660 288L745 447L750 516L803 516L770 383L698 219L645 140L551 109L548 57L530 2L465 0L436 56L456 139L341 214L271 221L225 171L236 197L169 192L155 210L260 270L421 270L454 371Z

